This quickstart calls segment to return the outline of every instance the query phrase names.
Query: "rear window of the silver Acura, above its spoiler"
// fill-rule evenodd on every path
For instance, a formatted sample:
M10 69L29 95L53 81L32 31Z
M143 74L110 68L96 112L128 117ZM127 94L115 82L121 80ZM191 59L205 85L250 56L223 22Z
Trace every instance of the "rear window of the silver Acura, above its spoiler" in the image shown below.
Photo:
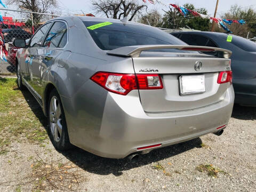
M83 21L94 42L102 50L113 50L123 46L133 45L187 45L178 38L153 27L140 26L130 23L111 23L92 29L91 26L102 22ZM88 27L91 27L88 28ZM157 50L176 52L178 50ZM179 52L187 52L181 51Z

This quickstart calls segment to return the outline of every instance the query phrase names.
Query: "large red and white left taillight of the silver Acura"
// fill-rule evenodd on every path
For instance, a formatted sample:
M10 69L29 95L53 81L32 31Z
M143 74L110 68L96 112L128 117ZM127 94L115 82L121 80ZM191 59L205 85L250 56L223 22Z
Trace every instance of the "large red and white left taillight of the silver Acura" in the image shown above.
M104 89L126 95L135 89L163 89L162 79L157 74L118 74L99 71L91 78Z

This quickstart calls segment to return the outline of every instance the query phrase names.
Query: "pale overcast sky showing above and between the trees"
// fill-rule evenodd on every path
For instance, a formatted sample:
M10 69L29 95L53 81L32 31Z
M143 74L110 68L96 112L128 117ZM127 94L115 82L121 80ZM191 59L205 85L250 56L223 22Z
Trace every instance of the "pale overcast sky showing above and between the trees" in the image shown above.
M141 1L142 0L137 0ZM179 4L183 5L185 3L191 3L194 4L196 8L204 7L208 10L208 13L213 16L215 11L215 5L217 0L161 0L163 4L167 5L172 4ZM93 13L90 0L60 0L59 5L63 8L68 10L68 12L75 12L79 10L83 10L85 13ZM143 2L142 2L143 3ZM256 8L256 1L255 0L219 0L219 6L218 6L218 13L217 16L220 17L223 13L228 11L230 9L231 5L237 4L239 6L246 8L253 7ZM147 5L149 5L149 9L157 9L159 12L162 12L162 9L167 10L167 7L163 5L152 5L149 2L147 2Z

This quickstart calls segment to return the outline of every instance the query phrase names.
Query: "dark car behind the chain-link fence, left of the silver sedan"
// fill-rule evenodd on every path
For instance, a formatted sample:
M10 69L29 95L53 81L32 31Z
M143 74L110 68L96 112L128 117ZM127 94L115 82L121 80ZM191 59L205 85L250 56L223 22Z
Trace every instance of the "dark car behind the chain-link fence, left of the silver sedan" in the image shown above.
M13 42L15 38L29 39L31 34L23 29L3 29L5 43Z

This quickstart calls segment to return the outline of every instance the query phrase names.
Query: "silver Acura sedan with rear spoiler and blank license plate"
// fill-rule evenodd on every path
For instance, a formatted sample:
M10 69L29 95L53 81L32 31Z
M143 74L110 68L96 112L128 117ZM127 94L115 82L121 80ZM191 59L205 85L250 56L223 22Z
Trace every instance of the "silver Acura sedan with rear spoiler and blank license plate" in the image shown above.
M58 150L145 154L220 135L231 116L228 50L189 46L140 23L73 16L50 20L28 45L14 45L21 47L18 86L41 105Z

